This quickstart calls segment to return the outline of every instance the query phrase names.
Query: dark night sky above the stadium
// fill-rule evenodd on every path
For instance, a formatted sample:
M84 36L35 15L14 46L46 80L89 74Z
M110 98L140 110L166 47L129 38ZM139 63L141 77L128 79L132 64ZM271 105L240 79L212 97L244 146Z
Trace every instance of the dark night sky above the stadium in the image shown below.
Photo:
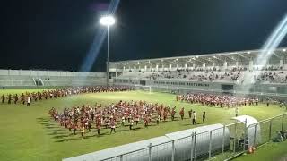
M79 71L103 30L98 20L107 4L1 1L0 69ZM286 0L122 0L110 32L110 60L260 48L286 13ZM104 71L106 47L105 41L91 71Z

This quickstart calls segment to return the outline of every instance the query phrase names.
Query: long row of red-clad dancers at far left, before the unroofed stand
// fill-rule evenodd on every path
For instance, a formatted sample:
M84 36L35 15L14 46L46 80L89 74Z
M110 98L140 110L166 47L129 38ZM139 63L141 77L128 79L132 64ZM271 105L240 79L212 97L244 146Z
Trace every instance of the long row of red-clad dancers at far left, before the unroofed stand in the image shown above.
M115 92L115 91L127 91L130 90L129 87L124 86L94 86L94 87L71 87L65 89L48 89L41 92L25 92L22 94L4 94L1 96L2 104L5 102L8 104L21 103L23 105L30 106L30 102L43 99L52 99L57 97L67 97L72 95L79 95L83 93L99 93L99 92Z

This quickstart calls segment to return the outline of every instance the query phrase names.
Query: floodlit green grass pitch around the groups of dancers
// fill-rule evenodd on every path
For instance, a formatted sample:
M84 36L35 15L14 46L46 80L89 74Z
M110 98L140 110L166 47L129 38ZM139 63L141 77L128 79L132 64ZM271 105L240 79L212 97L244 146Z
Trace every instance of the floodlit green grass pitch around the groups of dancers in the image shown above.
M24 91L38 91L42 89L6 89L0 91L0 96L6 93L22 93ZM138 125L137 130L129 131L128 127L118 127L117 133L109 135L109 129L102 129L102 135L97 136L96 131L86 133L84 139L80 134L71 135L72 132L61 127L48 115L51 107L63 109L65 106L83 106L100 103L107 105L119 100L144 100L153 103L162 103L169 106L177 106L177 110L185 107L186 119L181 121L177 118L174 122L152 123L152 126L144 128L143 124ZM73 97L64 97L51 100L33 102L31 106L4 105L0 104L0 158L4 160L61 160L64 157L74 157L85 153L94 152L104 148L112 148L138 140L146 140L158 137L173 131L180 131L195 126L190 124L187 118L187 110L196 110L198 126L202 126L201 114L206 112L205 124L233 123L230 119L235 115L234 109L222 109L211 106L191 105L177 102L175 96L167 93L144 93L144 92L116 92L83 94ZM239 114L248 114L263 120L277 114L285 113L285 109L278 106L246 106L239 108ZM178 113L177 113L178 116ZM169 119L170 120L170 119ZM93 126L94 127L94 126ZM77 131L79 132L79 131ZM273 148L276 144L270 144ZM286 144L285 144L286 146ZM285 148L286 149L286 148ZM260 154L260 148L256 153ZM283 153L283 152L282 152ZM287 153L287 150L285 150ZM262 154L265 154L264 152ZM280 153L281 154L281 153ZM257 154L254 154L256 156ZM262 155L260 155L262 156ZM244 160L255 160L260 157L244 157ZM240 160L240 157L239 157ZM259 160L259 159L257 159Z

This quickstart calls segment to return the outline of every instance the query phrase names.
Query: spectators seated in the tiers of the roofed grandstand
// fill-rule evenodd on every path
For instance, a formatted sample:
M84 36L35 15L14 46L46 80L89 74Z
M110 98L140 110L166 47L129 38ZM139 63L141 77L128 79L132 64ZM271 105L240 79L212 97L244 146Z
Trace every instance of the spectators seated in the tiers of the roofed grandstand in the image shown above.
M263 68L255 67L253 71L248 71L246 66L230 67L228 70L221 70L218 67L196 67L193 69L178 68L175 71L164 70L161 72L129 72L122 77L145 78L148 80L189 80L189 81L238 81L243 82L245 74L254 74L254 82L287 83L287 72L279 66L267 66ZM136 73L136 74L134 74ZM242 78L239 80L239 78Z

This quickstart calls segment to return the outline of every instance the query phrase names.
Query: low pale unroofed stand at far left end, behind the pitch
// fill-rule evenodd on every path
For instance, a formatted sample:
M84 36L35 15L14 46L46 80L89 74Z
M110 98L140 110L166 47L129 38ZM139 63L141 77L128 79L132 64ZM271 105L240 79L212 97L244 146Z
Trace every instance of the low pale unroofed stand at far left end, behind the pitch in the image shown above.
M64 72L35 70L0 70L2 87L65 87L102 85L101 72Z

